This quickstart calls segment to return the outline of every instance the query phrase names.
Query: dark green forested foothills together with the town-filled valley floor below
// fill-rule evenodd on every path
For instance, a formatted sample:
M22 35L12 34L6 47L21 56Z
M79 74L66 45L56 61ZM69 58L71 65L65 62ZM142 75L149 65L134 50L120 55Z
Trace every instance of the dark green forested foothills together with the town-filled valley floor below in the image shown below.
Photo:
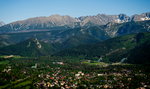
M59 52L35 38L2 47L0 88L150 88L149 37L130 34Z

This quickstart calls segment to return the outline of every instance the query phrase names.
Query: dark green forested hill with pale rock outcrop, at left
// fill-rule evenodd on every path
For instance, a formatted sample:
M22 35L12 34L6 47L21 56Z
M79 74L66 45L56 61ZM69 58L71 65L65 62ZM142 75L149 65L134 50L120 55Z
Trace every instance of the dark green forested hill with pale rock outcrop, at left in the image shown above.
M1 55L20 55L20 56L44 56L55 52L53 45L46 44L37 39L29 39L21 43L3 47L0 49Z

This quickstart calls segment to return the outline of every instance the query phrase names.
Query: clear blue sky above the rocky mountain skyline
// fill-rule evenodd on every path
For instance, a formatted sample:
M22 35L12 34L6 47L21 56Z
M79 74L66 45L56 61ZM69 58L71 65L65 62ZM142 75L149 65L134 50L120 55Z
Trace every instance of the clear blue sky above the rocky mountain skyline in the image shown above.
M150 12L150 0L0 0L0 20L10 23L52 14L73 17Z

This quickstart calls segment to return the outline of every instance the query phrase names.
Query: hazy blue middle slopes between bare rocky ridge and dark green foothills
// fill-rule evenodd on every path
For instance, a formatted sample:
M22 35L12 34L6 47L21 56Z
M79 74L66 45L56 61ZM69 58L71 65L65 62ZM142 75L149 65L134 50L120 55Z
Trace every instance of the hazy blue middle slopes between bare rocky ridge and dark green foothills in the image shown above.
M61 29L52 31L33 31L33 32L18 32L1 34L2 43L18 43L27 40L31 37L37 37L45 42L62 43L68 39L86 36L87 38L96 38L100 41L138 32L149 32L150 21L128 22L128 23L108 23L102 26L78 27L74 29ZM88 37L89 36L89 37ZM3 46L3 45L2 45ZM5 46L5 44L4 44Z

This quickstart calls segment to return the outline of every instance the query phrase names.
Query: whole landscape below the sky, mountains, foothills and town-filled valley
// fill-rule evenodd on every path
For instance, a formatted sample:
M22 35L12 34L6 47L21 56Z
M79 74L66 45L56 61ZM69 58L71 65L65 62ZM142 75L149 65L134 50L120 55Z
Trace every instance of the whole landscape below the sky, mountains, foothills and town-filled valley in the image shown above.
M148 89L149 18L51 15L3 24L0 89Z

